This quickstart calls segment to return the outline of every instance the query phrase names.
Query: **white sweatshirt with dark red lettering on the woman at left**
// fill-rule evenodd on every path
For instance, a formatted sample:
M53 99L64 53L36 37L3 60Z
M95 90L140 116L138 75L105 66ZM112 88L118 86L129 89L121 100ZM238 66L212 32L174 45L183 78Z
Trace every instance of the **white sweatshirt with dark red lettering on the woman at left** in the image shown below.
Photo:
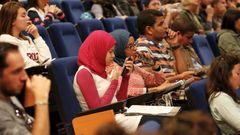
M19 47L19 51L24 59L25 68L47 63L47 59L48 62L51 61L52 56L50 50L41 36L33 41L28 36L26 36L26 38L28 40L18 39L9 34L2 34L0 36L0 42L11 43Z

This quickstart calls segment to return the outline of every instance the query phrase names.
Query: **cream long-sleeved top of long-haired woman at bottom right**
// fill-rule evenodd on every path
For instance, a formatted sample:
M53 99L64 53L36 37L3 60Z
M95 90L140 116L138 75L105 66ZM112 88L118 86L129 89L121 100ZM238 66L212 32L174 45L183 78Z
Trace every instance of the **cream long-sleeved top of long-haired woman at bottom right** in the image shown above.
M224 92L216 93L210 102L210 110L222 135L233 135L240 131L240 104Z

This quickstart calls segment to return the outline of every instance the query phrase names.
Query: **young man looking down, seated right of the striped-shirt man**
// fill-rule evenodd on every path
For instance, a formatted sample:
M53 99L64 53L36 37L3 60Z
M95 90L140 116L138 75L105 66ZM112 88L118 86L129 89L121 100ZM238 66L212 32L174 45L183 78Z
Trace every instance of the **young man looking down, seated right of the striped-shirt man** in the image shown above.
M173 54L176 61L180 61L178 64L177 71L182 73L184 71L193 70L196 74L202 74L199 77L206 77L208 67L203 66L199 57L192 47L192 38L197 28L192 22L186 21L182 18L178 18L173 21L171 29L176 31L179 35L179 45L172 47Z

